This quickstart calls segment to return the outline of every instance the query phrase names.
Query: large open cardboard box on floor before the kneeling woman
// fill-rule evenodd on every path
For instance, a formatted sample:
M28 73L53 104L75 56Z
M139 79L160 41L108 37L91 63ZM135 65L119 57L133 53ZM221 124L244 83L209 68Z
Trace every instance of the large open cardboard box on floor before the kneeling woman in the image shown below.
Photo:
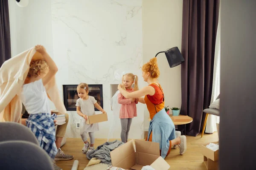
M168 170L170 165L160 156L159 143L133 139L111 151L113 167L141 170L150 165L155 170Z

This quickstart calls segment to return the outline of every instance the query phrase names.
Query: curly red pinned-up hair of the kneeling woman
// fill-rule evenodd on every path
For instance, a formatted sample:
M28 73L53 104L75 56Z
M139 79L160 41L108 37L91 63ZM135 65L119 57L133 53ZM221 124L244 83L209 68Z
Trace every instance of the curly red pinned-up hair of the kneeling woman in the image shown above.
M157 65L157 57L154 57L142 66L142 71L149 72L152 78L158 78L160 71Z

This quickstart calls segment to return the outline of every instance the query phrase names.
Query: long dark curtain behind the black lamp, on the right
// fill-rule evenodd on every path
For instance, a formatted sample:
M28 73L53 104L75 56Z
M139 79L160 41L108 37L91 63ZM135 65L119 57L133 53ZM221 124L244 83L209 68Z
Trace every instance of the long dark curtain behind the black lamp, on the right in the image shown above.
M180 114L193 118L186 125L189 136L197 136L202 129L203 110L211 101L219 3L219 0L183 0L181 53L185 62L181 65Z

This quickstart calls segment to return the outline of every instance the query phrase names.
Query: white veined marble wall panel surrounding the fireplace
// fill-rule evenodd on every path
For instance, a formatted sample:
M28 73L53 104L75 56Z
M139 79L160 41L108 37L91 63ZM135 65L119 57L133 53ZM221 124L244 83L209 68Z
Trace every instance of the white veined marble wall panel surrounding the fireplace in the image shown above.
M111 84L120 83L114 79L115 71L140 74L141 5L141 0L52 0L53 49L60 93L62 85L103 85L103 105L109 121L99 123L96 138L108 138L111 124L115 124L113 138L120 138L120 120L113 122L111 111ZM137 111L129 135L133 139L143 137L143 105L137 105ZM79 138L76 122L81 116L76 111L68 114L66 135Z

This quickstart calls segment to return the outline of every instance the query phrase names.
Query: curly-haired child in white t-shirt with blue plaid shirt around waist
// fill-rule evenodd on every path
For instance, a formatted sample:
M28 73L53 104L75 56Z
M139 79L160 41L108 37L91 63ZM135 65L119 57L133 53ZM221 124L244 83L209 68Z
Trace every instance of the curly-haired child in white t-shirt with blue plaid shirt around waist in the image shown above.
M20 98L30 114L26 120L27 127L32 130L40 146L53 160L57 153L54 127L56 115L51 115L45 85L55 76L58 68L42 45L36 45L35 50L42 54L42 59L30 62Z

